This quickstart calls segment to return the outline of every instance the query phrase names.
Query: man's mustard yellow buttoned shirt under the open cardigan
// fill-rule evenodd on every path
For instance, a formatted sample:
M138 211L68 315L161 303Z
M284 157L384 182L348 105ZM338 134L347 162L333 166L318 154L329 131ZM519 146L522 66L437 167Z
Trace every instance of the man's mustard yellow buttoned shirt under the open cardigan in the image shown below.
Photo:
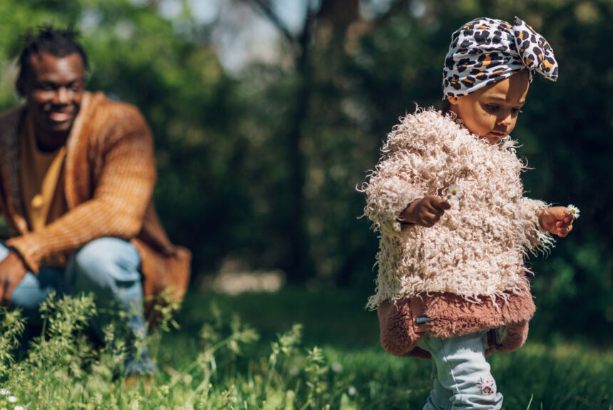
M26 204L26 219L31 231L46 225L68 212L63 190L63 163L66 145L46 153L38 149L34 126L26 118L21 133L21 191ZM47 265L63 266L65 257L53 257Z

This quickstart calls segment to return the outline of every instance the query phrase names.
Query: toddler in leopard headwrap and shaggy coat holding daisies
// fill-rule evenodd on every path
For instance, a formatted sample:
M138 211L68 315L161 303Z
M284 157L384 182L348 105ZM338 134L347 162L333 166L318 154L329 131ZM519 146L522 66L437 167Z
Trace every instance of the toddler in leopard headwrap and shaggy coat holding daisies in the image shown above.
M402 118L362 187L381 234L369 307L388 352L432 359L424 410L502 407L485 356L527 337L524 257L572 230L566 207L524 196L510 138L535 73L555 81L557 63L524 21L465 24L445 58L443 111Z

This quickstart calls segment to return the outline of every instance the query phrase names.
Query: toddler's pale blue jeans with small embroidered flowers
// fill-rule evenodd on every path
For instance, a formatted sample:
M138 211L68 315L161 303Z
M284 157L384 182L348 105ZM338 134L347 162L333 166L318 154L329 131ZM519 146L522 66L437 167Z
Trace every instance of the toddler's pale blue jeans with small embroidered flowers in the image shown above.
M434 387L423 410L500 410L503 395L485 360L486 330L451 339L429 333L419 347L432 355Z

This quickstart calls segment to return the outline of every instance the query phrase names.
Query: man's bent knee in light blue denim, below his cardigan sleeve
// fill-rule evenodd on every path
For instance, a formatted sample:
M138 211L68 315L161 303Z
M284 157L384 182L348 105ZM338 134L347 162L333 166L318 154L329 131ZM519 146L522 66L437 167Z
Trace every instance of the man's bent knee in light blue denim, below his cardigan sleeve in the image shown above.
M140 282L140 257L135 247L115 237L101 237L84 245L73 257L69 275L75 290L115 292Z

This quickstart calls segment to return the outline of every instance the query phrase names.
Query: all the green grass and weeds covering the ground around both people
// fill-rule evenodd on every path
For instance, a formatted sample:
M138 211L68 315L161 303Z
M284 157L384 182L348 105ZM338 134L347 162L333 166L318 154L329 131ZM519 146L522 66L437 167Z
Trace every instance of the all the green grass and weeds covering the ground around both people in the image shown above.
M366 297L346 289L192 292L180 328L152 337L159 373L150 386L131 387L116 376L121 361L109 349L93 352L79 336L92 312L87 299L56 301L48 307L54 337L39 339L28 359L10 364L11 332L0 337L0 387L26 409L421 410L431 363L383 352ZM3 327L19 328L6 314ZM612 349L529 339L490 363L505 409L613 409Z

